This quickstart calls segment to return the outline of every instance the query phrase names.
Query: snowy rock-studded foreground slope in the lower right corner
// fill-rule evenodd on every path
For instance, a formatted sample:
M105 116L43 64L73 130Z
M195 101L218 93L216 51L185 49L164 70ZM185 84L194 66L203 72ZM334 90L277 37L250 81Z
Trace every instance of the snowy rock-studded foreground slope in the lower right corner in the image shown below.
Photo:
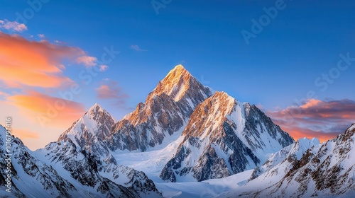
M355 124L323 144L297 141L256 168L241 190L219 197L354 197L354 141Z

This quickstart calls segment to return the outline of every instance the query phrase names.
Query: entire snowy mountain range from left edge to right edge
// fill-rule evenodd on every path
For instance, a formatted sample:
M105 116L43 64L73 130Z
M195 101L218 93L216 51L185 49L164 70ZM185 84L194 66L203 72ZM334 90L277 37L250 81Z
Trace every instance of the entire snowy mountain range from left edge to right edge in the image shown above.
M295 141L256 105L178 65L118 122L95 104L45 148L13 136L12 192L2 173L0 196L352 197L354 132Z

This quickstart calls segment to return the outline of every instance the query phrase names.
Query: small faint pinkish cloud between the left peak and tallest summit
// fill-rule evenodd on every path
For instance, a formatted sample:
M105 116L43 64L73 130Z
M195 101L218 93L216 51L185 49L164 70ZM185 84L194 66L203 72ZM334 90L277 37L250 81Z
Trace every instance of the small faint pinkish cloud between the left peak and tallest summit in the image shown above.
M97 98L112 100L114 105L123 107L126 105L126 99L129 98L129 95L124 93L123 89L119 86L116 81L109 79L104 79L101 86L96 88Z

